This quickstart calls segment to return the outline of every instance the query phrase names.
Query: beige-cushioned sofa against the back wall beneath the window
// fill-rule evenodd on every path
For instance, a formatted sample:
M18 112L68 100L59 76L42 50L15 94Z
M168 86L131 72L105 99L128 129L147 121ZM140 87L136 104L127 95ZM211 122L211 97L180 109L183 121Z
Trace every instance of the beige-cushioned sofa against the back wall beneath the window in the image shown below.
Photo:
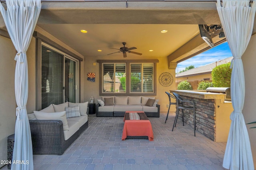
M96 116L124 116L125 111L144 111L148 117L159 117L160 105L157 103L154 97L101 96L96 104Z

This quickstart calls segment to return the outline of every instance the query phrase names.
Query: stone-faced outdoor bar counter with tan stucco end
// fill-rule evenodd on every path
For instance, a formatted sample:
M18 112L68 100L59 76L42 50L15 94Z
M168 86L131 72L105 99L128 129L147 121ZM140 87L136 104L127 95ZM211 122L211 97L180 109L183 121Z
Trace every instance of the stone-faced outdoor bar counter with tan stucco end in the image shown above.
M226 142L230 129L232 103L225 101L226 94L210 93L206 90L170 90L184 100L192 100L196 112L196 133L200 132L212 141ZM182 119L180 111L179 119ZM193 111L184 110L184 122L194 128ZM180 126L178 124L176 126ZM175 130L175 128L174 128ZM193 134L193 129L191 129Z

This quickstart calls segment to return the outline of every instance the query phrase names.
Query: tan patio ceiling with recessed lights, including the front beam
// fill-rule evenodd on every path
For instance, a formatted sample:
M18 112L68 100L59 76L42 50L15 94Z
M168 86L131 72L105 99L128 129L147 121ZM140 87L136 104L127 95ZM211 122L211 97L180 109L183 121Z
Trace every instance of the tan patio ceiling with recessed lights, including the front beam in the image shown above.
M209 47L198 39L198 24L220 24L215 2L128 2L128 8L126 2L43 2L38 19L39 27L85 57L108 57L118 51L110 48L126 42L143 54L128 53L127 59L169 57L169 62ZM168 32L160 33L163 29ZM122 53L111 56L120 59Z

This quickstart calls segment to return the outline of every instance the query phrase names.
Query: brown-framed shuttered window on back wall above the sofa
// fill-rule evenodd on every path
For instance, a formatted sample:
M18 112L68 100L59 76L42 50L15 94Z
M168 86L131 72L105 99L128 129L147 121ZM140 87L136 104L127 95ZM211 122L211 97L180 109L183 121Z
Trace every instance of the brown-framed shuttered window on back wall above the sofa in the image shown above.
M141 60L140 60L141 61ZM100 63L100 95L156 95L158 60Z

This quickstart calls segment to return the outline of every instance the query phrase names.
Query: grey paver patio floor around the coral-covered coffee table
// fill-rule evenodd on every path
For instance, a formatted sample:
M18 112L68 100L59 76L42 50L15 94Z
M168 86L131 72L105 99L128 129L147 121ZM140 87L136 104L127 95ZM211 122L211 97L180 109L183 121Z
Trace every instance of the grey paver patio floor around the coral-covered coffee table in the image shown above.
M89 115L89 127L63 155L34 155L34 170L223 170L226 143L213 142L174 114L149 117L154 141L121 140L123 117ZM139 130L139 129L138 129ZM7 166L2 168L7 170Z

